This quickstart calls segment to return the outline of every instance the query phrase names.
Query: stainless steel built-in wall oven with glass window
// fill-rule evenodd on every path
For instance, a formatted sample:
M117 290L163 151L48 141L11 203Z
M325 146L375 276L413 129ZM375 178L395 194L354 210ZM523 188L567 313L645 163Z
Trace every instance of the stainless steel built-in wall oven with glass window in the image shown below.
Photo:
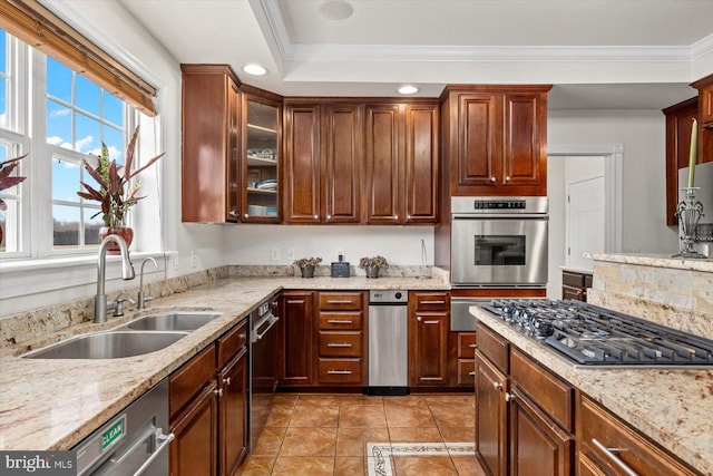
M451 284L545 288L547 210L546 196L451 197Z

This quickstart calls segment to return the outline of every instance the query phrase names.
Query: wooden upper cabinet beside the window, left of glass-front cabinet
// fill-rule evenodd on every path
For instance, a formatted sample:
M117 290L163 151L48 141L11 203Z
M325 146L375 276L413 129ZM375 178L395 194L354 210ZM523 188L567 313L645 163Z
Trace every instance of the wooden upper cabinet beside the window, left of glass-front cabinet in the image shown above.
M240 80L229 66L180 65L182 221L240 216Z

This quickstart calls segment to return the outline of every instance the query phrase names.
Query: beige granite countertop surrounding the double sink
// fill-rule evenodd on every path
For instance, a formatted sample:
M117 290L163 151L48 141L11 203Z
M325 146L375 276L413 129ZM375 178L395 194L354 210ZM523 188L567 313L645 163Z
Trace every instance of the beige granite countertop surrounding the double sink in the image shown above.
M40 348L71 333L113 329L170 309L223 314L157 352L110 360L42 360L23 359L13 354L18 349L7 349L0 356L0 450L74 447L281 289L447 290L449 285L437 278L224 279L152 301L139 313L127 312L105 324L82 323L32 342Z

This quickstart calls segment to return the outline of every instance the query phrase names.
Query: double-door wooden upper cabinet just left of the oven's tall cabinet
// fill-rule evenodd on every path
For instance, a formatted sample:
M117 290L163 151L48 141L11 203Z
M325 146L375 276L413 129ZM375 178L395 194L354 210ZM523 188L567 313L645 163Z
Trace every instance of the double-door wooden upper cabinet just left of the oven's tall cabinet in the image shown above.
M365 223L438 223L439 111L434 103L365 106Z

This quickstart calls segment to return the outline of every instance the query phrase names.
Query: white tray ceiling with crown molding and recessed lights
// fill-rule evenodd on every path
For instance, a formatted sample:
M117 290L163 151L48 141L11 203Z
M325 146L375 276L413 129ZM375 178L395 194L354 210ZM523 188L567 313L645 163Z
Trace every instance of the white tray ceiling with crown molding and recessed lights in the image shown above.
M661 109L713 72L713 0L350 0L345 20L323 0L118 1L179 62L285 96L554 84L550 109Z

